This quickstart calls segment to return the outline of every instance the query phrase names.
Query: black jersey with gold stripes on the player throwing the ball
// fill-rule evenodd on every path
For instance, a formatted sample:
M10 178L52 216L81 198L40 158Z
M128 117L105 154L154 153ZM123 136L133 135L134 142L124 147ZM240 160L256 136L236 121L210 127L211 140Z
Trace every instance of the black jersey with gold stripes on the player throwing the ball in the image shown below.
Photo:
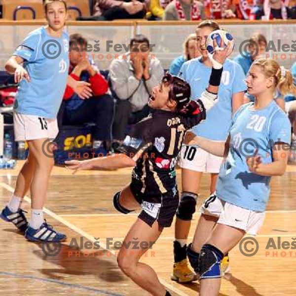
M206 118L200 100L190 115L154 110L135 124L119 151L139 156L132 182L142 193L163 194L176 186L176 163L186 130Z

